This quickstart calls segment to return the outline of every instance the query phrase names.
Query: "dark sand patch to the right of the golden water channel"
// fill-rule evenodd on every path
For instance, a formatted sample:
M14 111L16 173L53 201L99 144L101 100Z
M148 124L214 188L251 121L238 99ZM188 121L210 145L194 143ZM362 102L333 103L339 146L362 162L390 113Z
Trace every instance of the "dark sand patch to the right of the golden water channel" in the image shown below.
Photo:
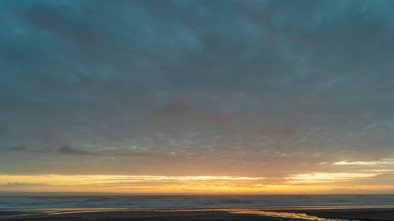
M359 219L369 221L394 221L392 208L352 208L321 210L267 210L275 212L305 213L321 218Z

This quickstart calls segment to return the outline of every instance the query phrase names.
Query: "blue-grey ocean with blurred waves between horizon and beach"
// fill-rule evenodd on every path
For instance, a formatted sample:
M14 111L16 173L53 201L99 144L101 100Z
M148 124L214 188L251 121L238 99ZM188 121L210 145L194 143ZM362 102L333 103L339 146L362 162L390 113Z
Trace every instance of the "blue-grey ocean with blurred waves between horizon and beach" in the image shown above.
M0 210L40 208L346 208L392 206L394 206L394 194L0 197Z

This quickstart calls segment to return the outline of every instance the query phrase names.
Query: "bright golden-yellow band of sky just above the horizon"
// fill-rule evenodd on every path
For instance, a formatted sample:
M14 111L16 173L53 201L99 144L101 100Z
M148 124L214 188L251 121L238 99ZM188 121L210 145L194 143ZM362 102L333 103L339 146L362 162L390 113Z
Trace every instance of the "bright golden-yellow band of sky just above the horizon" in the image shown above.
M394 185L340 184L372 173L311 173L283 179L229 176L0 175L0 191L113 193L337 193L339 190L394 190ZM372 178L373 179L373 178ZM281 180L278 182L278 180ZM336 192L332 192L335 190ZM394 192L393 192L394 193Z

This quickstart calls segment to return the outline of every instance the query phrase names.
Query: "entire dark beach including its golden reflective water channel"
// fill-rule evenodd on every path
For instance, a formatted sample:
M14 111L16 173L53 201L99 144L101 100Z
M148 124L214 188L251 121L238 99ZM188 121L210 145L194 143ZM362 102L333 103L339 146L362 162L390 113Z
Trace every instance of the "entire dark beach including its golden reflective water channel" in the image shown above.
M266 215L273 214L275 216ZM264 215L263 215L264 214ZM306 214L306 215L305 215ZM297 217L298 215L298 217ZM160 209L160 210L63 210L62 212L0 211L0 219L7 221L290 221L290 220L368 220L394 221L394 208L346 209ZM299 218L303 217L303 219Z

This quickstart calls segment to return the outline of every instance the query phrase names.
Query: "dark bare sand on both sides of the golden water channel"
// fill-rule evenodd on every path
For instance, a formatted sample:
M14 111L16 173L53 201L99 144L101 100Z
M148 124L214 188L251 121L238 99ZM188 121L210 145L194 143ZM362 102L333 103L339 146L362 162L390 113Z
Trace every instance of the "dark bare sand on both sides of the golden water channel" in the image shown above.
M262 210L261 210L262 211ZM394 209L324 209L324 210L266 210L287 213L306 213L320 218L341 218L369 221L394 221ZM221 210L209 211L99 211L63 214L31 214L0 211L0 220L7 221L306 221L289 217L271 217L258 214L234 214Z

